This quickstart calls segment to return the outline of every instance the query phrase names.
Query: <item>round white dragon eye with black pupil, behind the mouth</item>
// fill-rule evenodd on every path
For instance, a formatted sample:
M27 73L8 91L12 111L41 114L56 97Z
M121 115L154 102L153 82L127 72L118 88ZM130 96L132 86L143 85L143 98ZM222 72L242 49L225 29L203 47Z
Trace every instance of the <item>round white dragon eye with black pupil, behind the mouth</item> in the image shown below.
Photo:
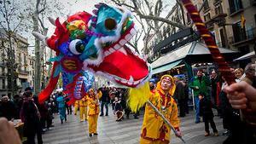
M69 50L73 55L80 55L85 49L84 42L80 39L75 39L69 44Z

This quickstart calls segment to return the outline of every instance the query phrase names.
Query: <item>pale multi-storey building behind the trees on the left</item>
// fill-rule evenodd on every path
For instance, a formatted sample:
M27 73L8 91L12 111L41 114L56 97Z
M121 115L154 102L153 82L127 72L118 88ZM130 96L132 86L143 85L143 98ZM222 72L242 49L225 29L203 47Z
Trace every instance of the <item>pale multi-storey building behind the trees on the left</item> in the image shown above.
M27 39L19 34L13 34L11 39L12 53L8 54L9 40L3 30L1 30L1 49L0 49L0 97L3 95L11 96L10 85L10 65L14 66L14 82L15 94L19 94L20 90L25 89L33 84L33 65L32 56L28 54ZM8 56L14 56L13 61L9 61ZM34 61L34 60L33 60Z

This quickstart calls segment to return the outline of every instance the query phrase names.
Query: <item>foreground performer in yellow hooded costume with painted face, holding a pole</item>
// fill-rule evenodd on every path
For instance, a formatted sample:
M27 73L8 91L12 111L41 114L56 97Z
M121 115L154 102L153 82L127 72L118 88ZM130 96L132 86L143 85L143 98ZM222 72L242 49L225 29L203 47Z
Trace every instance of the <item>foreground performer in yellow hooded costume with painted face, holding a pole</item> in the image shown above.
M169 120L174 129L179 131L180 121L177 118L177 103L172 98L175 91L175 84L172 76L164 75L158 82L154 92L151 92L149 101ZM170 142L171 129L165 124L162 118L154 112L148 104L145 107L143 127L141 133L141 144L165 144Z

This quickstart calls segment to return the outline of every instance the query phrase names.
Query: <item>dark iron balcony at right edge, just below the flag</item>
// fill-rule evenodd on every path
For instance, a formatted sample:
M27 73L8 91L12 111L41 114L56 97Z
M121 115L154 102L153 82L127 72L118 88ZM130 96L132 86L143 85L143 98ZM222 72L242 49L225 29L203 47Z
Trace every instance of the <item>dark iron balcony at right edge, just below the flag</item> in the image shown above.
M239 45L247 43L256 39L256 27L248 29L247 31L235 33L234 37L229 37L232 45Z

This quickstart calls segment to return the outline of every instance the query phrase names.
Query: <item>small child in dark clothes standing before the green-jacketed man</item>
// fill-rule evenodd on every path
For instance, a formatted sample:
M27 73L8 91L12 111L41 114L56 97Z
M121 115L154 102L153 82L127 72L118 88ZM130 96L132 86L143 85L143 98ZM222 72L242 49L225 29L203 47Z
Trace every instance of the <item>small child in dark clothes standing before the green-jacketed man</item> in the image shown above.
M213 121L213 112L212 112L212 102L204 98L204 95L199 95L200 100L200 115L203 117L205 122L205 136L210 135L209 131L209 123L211 124L213 133L215 136L218 136L218 130L216 129L216 125Z

